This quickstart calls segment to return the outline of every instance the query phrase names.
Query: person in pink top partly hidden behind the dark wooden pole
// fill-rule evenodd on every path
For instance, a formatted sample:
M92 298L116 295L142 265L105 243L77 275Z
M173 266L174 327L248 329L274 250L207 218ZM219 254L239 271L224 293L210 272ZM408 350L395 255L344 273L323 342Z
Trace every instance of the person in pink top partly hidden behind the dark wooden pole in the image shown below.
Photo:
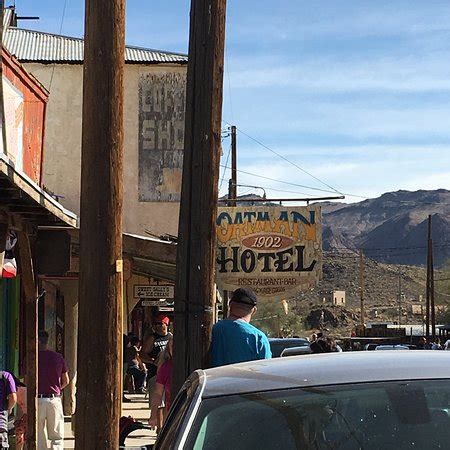
M158 371L156 373L156 383L152 395L152 404L150 419L148 424L156 428L157 432L161 429L172 403L172 373L173 373L173 339L169 338L166 348L161 353L158 360ZM160 412L163 414L161 415Z

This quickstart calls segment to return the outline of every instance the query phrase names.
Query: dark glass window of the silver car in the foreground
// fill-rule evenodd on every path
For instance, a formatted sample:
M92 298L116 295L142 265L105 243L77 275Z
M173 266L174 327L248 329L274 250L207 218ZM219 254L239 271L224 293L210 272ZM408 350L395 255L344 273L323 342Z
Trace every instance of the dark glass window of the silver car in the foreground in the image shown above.
M361 383L205 399L185 448L444 449L450 380Z

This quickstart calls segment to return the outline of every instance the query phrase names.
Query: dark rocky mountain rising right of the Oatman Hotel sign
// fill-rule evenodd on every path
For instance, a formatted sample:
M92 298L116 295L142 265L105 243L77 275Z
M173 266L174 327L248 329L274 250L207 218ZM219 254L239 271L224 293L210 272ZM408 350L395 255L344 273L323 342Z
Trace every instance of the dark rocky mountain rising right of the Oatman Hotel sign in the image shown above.
M390 264L425 265L428 215L436 267L450 259L450 191L397 191L353 204L323 205L323 247Z

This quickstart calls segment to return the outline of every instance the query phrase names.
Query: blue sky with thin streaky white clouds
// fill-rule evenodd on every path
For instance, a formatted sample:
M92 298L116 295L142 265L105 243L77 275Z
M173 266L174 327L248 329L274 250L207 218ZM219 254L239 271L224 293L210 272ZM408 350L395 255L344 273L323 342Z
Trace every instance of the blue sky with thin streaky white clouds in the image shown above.
M64 16L64 0L15 3L40 16L19 26L83 35L82 0L66 0ZM189 7L128 0L127 44L187 53ZM223 86L238 169L279 180L239 173L238 184L270 198L331 186L347 202L450 189L448 1L228 0ZM226 165L230 139L222 145ZM263 192L238 193L250 191Z

